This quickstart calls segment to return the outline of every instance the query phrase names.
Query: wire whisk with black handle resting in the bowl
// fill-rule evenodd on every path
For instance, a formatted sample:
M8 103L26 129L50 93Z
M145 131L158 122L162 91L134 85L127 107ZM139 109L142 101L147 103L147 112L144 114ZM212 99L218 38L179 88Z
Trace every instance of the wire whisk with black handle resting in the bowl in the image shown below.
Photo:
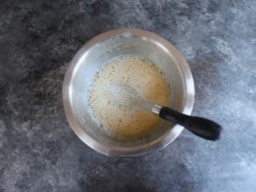
M110 84L105 88L105 93L109 94L119 106L153 112L167 121L181 124L188 131L203 139L217 140L220 137L221 125L207 118L188 116L168 107L151 103L127 84Z

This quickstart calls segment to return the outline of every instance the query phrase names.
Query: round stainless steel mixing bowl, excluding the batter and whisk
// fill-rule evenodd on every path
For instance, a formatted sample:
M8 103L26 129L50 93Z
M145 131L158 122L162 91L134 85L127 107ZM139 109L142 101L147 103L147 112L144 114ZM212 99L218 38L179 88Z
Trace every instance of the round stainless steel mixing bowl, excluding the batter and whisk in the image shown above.
M75 54L63 82L63 105L68 122L82 141L99 153L135 156L167 146L181 133L178 124L162 122L154 132L139 139L115 139L103 132L91 117L87 91L94 75L107 60L119 55L138 55L158 65L171 86L171 105L190 114L194 81L188 63L166 39L139 29L117 29L91 39Z

